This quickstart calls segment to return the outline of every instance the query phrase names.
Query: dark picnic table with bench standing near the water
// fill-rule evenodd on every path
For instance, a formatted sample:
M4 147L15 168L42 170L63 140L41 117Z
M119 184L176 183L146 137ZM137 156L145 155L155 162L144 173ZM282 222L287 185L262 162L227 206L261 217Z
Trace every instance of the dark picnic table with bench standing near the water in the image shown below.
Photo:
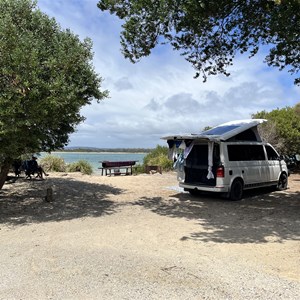
M132 168L135 163L138 162L136 160L126 160L126 161L100 161L102 163L102 167L98 168L101 170L101 175L104 173L106 176L111 175L132 175Z

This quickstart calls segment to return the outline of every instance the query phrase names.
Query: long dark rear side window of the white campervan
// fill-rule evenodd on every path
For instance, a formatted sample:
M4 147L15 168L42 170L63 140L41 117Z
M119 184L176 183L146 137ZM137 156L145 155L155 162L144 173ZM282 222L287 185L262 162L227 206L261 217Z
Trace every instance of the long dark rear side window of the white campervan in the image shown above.
M265 160L263 145L227 145L230 161Z

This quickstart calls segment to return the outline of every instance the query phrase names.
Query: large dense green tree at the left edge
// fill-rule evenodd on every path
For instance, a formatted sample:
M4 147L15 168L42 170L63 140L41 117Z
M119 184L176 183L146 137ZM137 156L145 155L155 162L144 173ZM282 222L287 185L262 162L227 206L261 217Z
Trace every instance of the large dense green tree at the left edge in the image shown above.
M107 97L92 44L31 0L0 0L0 188L13 159L68 143L80 109Z

